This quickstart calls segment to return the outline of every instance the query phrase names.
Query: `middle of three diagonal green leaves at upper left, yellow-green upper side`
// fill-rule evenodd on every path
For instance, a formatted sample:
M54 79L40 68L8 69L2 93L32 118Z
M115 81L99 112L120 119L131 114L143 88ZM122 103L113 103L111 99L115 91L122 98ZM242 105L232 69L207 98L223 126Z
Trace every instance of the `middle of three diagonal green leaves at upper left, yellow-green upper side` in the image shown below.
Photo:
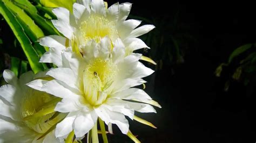
M33 41L36 42L37 39L44 37L44 33L39 28L35 22L18 6L10 2L9 0L3 0L8 9L12 12L12 14L17 18L18 22L23 27L26 35ZM36 44L35 47L37 53L42 56L46 49L43 46Z

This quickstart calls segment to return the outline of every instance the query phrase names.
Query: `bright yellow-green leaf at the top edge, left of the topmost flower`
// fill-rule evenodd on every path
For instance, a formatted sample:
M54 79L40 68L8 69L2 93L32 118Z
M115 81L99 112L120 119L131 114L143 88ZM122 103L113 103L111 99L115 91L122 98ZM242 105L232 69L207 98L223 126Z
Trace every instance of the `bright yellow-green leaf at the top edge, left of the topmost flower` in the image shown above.
M73 11L73 0L40 0L40 3L49 8L63 7Z

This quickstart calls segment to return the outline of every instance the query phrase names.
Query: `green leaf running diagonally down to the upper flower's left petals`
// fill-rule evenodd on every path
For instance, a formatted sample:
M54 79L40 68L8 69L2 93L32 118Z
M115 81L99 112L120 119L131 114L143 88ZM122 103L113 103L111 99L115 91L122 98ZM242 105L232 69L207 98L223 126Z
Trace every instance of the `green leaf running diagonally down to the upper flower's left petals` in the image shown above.
M36 6L31 4L28 0L13 0L14 4L19 6L19 8L25 10L28 15L35 20L35 22L42 27L48 34L57 34L60 35L60 33L56 30L56 28L52 25L49 19L45 19L42 16L38 14L38 11L36 9ZM46 33L45 33L46 34Z

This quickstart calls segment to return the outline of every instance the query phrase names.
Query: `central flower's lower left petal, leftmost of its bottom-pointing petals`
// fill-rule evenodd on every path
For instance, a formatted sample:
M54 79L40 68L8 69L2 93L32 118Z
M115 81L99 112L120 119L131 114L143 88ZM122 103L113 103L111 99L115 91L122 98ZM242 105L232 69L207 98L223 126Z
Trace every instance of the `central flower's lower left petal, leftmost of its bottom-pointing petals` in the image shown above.
M57 124L55 129L56 137L62 137L69 134L73 130L73 122L77 116L77 112L70 112L66 118Z

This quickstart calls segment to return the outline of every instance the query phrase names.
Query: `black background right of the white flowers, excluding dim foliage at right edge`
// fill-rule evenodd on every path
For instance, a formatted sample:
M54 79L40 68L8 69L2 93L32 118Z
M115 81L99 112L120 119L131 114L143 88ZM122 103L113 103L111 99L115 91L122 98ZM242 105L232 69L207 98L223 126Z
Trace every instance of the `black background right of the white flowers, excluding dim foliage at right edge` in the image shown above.
M117 1L107 2L110 6ZM224 91L230 78L228 71L221 77L214 74L235 48L255 43L253 2L119 1L123 2L133 3L131 17L146 18L152 23L144 20L144 24L156 25L152 31L158 33L156 44L160 45L158 37L165 37L167 40L161 45L168 45L166 37L179 33L188 33L194 39L180 46L182 59L174 56L167 60L166 49L161 46L148 44L151 50L142 51L154 55L151 58L158 63L145 63L156 70L146 78L145 90L162 108L156 108L157 114L136 113L157 129L131 121L132 133L142 142L255 142L255 84L245 86L232 81L229 90ZM1 22L1 31L3 41L13 41L6 23ZM14 52L10 48L13 43L7 45L10 46L0 47L2 61L6 59L4 53L25 59L21 48ZM8 65L6 62L9 61L1 64ZM109 142L131 142L116 127L114 133L109 135Z

